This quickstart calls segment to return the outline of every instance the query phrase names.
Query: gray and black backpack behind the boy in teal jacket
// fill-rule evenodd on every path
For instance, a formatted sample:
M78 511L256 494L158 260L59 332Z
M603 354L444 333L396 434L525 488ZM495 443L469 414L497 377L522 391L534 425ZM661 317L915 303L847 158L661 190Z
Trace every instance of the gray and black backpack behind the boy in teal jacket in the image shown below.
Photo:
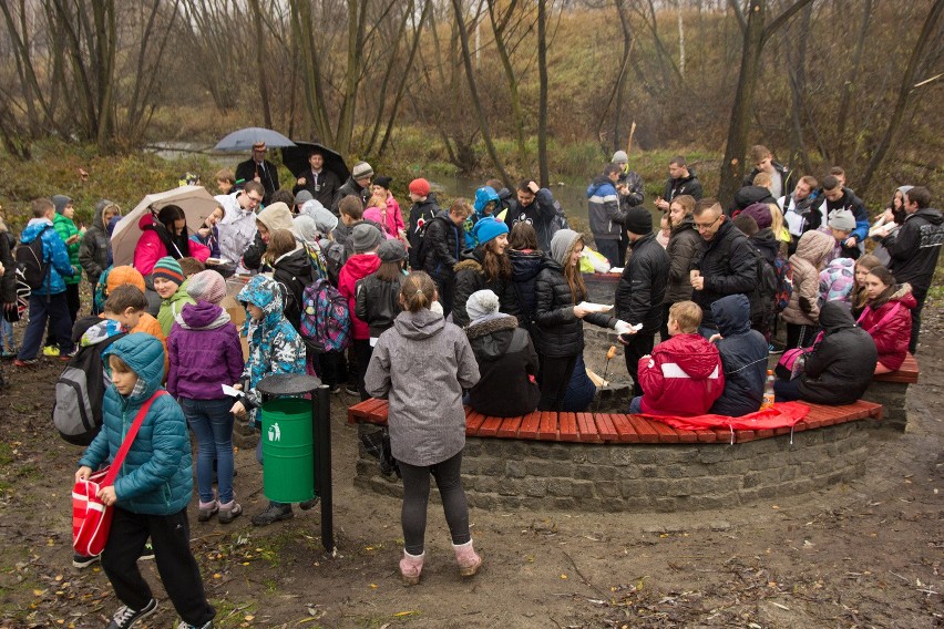
M62 439L73 445L89 445L102 427L102 401L111 385L102 352L124 336L122 332L79 348L55 382L52 423Z

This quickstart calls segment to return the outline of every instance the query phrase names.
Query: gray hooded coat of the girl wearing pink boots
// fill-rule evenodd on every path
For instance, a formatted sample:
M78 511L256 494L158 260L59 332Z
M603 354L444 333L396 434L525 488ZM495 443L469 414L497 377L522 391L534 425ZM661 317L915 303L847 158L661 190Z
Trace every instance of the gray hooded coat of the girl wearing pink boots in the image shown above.
M462 390L478 382L465 333L425 308L397 316L365 375L368 393L390 400L393 457L417 466L441 463L465 446Z

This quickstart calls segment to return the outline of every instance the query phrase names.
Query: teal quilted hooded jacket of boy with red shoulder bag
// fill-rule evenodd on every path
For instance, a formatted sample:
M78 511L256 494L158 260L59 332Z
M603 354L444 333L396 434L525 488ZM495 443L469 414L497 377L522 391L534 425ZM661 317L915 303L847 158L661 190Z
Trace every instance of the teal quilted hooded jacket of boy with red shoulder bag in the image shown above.
M79 461L92 470L114 458L138 409L161 389L164 375L164 350L148 334L119 339L103 352L103 360L111 354L123 360L138 380L130 395L122 395L114 385L105 391L102 430ZM192 463L184 413L171 395L160 395L115 480L116 506L147 515L172 515L186 508L193 495Z

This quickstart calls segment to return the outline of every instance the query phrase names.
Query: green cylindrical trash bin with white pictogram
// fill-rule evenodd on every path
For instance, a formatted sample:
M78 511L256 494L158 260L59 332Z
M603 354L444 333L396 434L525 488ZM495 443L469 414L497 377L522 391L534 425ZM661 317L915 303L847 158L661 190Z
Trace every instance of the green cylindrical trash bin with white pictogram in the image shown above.
M315 497L311 402L276 398L263 403L263 493L277 503Z

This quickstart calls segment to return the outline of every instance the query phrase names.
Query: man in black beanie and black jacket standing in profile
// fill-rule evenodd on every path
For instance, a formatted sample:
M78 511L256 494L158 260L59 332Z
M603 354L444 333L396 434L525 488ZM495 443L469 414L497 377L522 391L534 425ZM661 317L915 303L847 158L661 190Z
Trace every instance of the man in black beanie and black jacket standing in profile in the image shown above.
M616 316L642 329L622 334L626 370L633 378L633 396L644 394L636 371L639 359L651 353L656 332L663 321L663 298L668 283L668 254L653 234L653 215L645 207L634 207L624 220L633 255L616 286Z

